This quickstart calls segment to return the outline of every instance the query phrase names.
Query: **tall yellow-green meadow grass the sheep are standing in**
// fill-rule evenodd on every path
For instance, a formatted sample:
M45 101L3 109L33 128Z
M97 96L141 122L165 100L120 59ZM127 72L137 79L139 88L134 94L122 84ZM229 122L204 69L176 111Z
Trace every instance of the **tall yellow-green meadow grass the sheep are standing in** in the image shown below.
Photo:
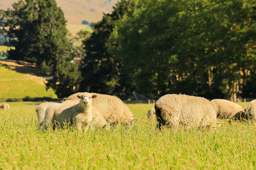
M128 104L138 120L130 130L43 133L34 103L9 104L0 110L0 169L255 169L254 121L158 131L146 118L153 104Z

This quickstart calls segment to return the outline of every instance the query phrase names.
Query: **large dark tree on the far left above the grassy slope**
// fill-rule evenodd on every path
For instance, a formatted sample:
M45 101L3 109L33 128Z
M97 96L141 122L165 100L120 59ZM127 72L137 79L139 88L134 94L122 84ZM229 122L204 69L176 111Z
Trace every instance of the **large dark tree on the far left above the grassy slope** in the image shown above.
M36 63L45 75L56 73L56 66L71 61L72 44L67 41L66 20L55 0L25 0L13 4L13 10L1 10L10 59Z

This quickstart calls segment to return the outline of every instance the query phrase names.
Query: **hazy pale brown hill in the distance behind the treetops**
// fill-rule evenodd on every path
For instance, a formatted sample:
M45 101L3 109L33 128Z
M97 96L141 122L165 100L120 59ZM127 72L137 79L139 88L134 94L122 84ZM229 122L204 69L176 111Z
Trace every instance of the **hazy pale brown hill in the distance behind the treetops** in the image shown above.
M63 10L68 24L81 24L83 20L98 22L103 12L109 13L118 0L56 0L57 6ZM0 0L0 8L11 8L18 0Z

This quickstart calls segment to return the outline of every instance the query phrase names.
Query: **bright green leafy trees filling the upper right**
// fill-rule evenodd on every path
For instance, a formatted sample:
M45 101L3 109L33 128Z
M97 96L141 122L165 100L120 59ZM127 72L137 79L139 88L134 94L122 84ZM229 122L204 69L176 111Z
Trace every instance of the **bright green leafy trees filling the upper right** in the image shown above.
M148 97L235 98L251 76L247 71L255 71L253 4L136 1L136 10L115 25L109 51L122 56L135 90Z

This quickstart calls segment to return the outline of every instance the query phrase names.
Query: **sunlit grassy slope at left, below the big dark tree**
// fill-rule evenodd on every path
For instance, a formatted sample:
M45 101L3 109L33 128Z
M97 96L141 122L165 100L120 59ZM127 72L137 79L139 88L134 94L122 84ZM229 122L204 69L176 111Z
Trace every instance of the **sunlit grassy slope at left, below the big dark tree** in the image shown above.
M7 66L1 63L5 62L0 61L0 101L22 99L26 96L56 98L52 89L46 91L45 80L30 74L31 71L35 71L33 68Z

